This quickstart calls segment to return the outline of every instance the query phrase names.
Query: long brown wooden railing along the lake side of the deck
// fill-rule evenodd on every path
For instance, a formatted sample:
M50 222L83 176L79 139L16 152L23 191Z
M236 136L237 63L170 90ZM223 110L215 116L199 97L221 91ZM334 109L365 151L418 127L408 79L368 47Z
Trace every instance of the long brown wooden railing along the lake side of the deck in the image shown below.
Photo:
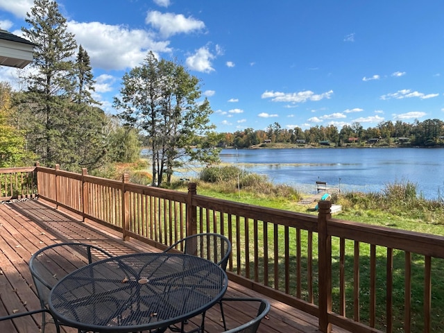
M39 198L119 230L123 239L164 248L187 234L225 234L230 280L317 316L321 332L332 325L443 332L444 237L333 219L329 201L319 202L314 216L200 196L194 183L185 193L86 169L37 165L35 174Z

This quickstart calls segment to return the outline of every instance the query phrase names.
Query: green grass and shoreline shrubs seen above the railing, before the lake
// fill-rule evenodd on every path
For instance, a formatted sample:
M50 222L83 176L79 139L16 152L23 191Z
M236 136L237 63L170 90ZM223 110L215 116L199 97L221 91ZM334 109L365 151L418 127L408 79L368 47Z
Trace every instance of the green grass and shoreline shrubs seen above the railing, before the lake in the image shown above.
M149 185L151 175L146 170L146 160L135 164L117 164L108 178L121 179L123 173L128 173L130 182ZM289 185L275 185L267 176L234 166L207 167L200 171L197 178L174 178L168 188L187 191L188 182L196 182L198 194L203 196L318 214L313 211L316 201L310 205L300 203L300 199L309 194ZM334 205L341 205L341 212L334 215L337 219L444 236L444 198L422 198L417 192L417 185L409 180L389 183L379 192L341 192L332 195L331 201Z

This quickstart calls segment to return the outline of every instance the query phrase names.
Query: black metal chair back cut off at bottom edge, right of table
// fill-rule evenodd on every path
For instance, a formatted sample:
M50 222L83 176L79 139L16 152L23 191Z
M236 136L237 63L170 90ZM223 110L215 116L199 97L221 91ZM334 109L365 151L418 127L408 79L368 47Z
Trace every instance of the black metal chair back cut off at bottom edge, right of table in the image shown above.
M248 323L234 327L231 330L227 330L225 315L223 313L223 305L227 304L228 302L233 303L232 307L234 307L235 311L237 312L241 311L241 309L246 309L246 305L253 302L255 305L257 305L257 314L253 319L248 321ZM239 304L234 305L235 302L238 302ZM257 332L262 319L265 318L270 311L270 303L262 298L222 298L220 305L225 333L255 333Z

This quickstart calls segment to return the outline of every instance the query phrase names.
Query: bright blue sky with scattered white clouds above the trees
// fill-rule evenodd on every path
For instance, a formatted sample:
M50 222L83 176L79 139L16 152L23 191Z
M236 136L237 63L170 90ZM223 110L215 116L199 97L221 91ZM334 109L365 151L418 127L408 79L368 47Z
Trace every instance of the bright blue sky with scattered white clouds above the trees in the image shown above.
M60 0L108 113L149 50L201 79L219 132L444 118L442 0ZM0 0L17 35L31 0ZM29 70L29 69L27 69ZM0 69L14 87L17 69Z

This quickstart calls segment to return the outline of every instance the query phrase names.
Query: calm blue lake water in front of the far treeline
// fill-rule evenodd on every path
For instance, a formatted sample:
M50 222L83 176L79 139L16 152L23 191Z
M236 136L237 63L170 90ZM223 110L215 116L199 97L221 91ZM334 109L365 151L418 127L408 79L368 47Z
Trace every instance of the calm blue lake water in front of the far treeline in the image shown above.
M316 180L364 192L409 180L425 198L444 196L443 148L223 149L221 160L305 193Z

